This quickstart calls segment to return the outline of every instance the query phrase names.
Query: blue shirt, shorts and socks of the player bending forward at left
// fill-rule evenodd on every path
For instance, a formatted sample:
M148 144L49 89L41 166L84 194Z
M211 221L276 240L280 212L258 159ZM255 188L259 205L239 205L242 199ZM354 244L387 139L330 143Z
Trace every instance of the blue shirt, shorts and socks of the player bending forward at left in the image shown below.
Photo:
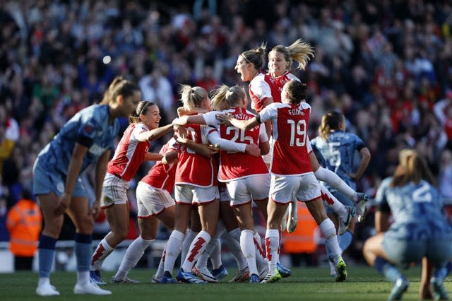
M88 152L83 157L72 196L88 198L80 174L88 165L95 163L102 153L113 148L114 138L118 132L119 120L114 119L110 124L109 105L92 105L75 114L37 156L33 167L33 193L38 199L39 195L49 194L51 191L57 196L64 193L73 149L76 143L80 143L88 148ZM74 240L77 271L89 273L92 235L76 232ZM47 235L40 237L38 247L40 278L50 276L56 243L57 239L54 237Z

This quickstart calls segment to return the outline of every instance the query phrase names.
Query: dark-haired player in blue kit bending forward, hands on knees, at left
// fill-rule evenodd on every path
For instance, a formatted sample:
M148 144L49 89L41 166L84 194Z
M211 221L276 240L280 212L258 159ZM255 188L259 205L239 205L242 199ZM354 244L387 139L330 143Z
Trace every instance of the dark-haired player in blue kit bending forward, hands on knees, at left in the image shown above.
M114 78L99 105L91 105L72 117L57 136L39 153L33 167L33 192L40 201L44 229L40 237L39 282L36 294L59 295L50 284L57 243L64 213L76 225L74 251L77 257L76 294L108 295L90 282L90 255L93 240L93 217L100 212L100 198L105 170L119 132L118 117L136 110L141 93L124 78ZM95 168L95 202L90 208L81 173L92 163Z

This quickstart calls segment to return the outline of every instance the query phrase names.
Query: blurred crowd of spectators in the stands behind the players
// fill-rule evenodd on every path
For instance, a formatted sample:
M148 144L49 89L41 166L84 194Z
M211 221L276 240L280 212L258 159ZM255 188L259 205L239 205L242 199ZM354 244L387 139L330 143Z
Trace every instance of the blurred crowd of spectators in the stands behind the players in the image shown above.
M0 0L0 218L31 188L37 153L114 76L136 81L163 125L180 84L246 88L238 54L299 37L315 47L295 71L309 85L309 136L325 112L345 114L371 151L358 190L373 196L409 147L452 203L451 2L300 2Z

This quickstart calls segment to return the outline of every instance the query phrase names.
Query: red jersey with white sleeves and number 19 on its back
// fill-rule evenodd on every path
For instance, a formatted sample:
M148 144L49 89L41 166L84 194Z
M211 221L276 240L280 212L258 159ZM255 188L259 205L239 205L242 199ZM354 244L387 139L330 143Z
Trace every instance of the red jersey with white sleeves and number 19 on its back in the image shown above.
M307 149L308 124L311 106L274 102L265 107L261 122L271 120L275 145L271 156L270 172L273 175L304 175L312 172Z

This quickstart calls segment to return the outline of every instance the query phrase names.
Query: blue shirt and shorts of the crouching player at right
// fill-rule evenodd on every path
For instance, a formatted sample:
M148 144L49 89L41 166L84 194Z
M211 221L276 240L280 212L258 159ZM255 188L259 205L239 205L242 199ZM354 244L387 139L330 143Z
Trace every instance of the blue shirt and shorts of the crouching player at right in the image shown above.
M391 208L394 223L384 234L383 249L397 264L407 266L423 256L439 268L452 256L452 227L443 213L439 192L428 182L390 187L391 177L376 193L379 206Z

